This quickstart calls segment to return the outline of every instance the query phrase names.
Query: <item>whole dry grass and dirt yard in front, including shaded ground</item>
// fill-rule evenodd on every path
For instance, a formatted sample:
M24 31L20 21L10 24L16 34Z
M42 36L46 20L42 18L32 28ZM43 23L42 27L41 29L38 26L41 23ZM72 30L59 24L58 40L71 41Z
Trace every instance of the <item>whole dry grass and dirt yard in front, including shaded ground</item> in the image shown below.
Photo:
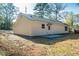
M0 33L1 56L79 56L79 34L58 39Z

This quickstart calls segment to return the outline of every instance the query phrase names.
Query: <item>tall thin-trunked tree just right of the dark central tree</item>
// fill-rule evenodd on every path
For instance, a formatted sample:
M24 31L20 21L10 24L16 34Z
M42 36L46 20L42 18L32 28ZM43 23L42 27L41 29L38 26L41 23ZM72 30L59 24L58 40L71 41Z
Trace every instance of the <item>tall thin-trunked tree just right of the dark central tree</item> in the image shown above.
M55 14L55 20L58 20L58 18L61 17L60 12L63 11L65 9L66 5L63 3L53 3L52 4L52 8L53 8L53 12Z

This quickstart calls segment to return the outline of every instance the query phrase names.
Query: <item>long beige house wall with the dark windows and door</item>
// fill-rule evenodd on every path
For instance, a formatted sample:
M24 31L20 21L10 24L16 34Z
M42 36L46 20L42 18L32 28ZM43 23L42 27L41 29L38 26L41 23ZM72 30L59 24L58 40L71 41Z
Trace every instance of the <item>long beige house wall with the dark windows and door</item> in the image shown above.
M45 28L42 28L42 24L45 24ZM32 21L30 26L32 30L31 36L39 36L39 35L48 35L48 34L59 34L59 33L68 33L65 31L65 25L63 24L52 24L50 26L50 30L48 30L48 23L40 22L40 21Z

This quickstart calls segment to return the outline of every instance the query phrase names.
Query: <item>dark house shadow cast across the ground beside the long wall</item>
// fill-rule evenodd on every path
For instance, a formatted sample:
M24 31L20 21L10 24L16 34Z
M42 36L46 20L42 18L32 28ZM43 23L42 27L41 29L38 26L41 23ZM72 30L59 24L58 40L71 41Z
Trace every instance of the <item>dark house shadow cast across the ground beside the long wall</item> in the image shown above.
M28 37L28 36L23 36L23 35L18 35L24 39L27 40L31 40L34 43L39 43L39 44L45 44L45 45L52 45L55 44L57 42L62 42L65 40L77 40L79 39L79 34L65 34L62 35L60 37L52 37L48 38L48 37L42 37L42 36L38 36L38 37Z

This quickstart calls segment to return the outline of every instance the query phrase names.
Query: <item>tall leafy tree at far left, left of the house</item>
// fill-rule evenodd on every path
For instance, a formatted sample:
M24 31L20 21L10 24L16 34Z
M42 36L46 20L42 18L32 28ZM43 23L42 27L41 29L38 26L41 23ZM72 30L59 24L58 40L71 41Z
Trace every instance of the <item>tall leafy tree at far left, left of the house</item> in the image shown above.
M12 3L0 4L0 15L4 17L4 29L11 29L12 20L17 14L17 8Z

